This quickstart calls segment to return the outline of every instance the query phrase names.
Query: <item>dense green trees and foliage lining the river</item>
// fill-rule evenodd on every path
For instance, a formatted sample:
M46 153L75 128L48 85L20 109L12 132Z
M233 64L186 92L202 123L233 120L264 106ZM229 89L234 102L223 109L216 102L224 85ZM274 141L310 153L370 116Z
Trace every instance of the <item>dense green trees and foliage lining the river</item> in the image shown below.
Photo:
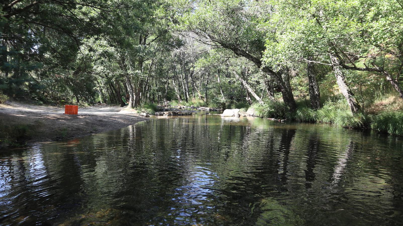
M403 106L401 0L0 7L0 102L252 106L261 116L402 134L393 123Z

